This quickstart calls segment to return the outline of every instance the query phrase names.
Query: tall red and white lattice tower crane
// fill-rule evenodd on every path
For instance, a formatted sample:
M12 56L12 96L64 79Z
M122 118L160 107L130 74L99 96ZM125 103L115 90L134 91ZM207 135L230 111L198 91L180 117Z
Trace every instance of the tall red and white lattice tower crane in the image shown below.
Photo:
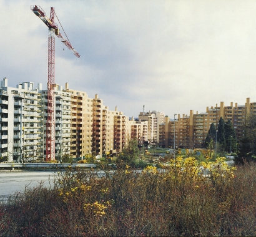
M38 16L49 29L48 34L48 82L47 82L47 122L46 122L46 161L55 160L55 120L54 120L54 58L55 58L55 35L63 42L76 57L80 57L76 49L71 46L59 32L59 27L54 22L54 7L51 7L50 17L40 6L31 6L30 9ZM57 17L58 19L58 17ZM58 19L59 20L59 19ZM61 22L59 22L61 25ZM62 26L61 26L62 27ZM63 28L62 28L63 30ZM64 30L63 30L64 31ZM64 31L65 33L65 31ZM66 34L65 34L66 35ZM67 36L66 36L67 37Z

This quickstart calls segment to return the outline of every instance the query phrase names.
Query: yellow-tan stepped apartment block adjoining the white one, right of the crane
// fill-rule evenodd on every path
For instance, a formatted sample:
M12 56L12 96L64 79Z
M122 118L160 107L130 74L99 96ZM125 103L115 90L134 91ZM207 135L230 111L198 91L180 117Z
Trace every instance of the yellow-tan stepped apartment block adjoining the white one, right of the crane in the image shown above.
M86 92L68 88L71 93L71 155L104 155L120 152L131 135L129 117L109 110L96 94L89 98Z

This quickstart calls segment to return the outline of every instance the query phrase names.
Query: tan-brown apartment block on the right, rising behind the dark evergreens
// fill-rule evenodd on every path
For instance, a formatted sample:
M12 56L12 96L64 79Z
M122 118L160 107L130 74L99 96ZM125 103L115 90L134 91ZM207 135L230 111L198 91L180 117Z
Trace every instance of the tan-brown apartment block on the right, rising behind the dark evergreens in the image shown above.
M165 122L159 126L159 145L162 147L174 147L174 129L175 129L175 147L176 148L203 148L205 138L209 131L210 125L214 123L218 129L220 117L224 122L230 120L234 126L237 138L242 137L240 126L247 117L247 114L256 114L256 103L246 99L245 105L238 105L231 102L225 106L220 102L212 107L206 107L204 113L190 110L189 115L177 115L177 119L170 120L165 117Z

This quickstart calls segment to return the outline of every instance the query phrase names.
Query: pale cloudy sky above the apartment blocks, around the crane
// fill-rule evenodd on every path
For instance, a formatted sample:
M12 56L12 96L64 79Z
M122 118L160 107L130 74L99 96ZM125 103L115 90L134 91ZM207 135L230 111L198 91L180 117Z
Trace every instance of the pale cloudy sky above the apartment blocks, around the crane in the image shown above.
M256 102L256 1L0 0L0 79L47 85L51 7L77 58L56 37L55 82L129 117ZM57 19L55 18L56 23ZM64 32L60 29L62 35Z

